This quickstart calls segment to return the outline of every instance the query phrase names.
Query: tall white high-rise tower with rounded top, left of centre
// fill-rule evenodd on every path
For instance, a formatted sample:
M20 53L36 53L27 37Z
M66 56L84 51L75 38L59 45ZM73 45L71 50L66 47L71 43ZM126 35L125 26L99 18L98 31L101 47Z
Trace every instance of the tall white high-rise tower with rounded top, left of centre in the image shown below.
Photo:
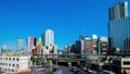
M42 42L43 46L54 45L54 32L52 29L47 29L43 32Z

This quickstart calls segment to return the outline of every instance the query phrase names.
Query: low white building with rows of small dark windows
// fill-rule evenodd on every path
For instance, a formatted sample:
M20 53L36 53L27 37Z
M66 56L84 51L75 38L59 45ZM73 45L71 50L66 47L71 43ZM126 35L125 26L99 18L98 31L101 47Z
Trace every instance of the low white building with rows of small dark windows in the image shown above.
M0 71L2 72L20 72L29 67L29 57L0 55Z

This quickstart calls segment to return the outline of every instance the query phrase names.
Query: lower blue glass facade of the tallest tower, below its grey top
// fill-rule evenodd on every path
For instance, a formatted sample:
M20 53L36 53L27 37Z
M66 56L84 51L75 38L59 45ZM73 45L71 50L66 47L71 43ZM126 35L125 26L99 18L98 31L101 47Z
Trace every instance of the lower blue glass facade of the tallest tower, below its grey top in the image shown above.
M108 34L113 48L130 49L130 16L109 21Z

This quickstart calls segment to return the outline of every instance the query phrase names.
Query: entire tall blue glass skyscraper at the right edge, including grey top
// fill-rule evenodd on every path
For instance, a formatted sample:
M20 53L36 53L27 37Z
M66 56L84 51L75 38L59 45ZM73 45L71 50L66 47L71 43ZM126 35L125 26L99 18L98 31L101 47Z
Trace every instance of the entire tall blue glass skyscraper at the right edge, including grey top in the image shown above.
M109 8L108 36L110 48L130 48L128 1L116 3Z

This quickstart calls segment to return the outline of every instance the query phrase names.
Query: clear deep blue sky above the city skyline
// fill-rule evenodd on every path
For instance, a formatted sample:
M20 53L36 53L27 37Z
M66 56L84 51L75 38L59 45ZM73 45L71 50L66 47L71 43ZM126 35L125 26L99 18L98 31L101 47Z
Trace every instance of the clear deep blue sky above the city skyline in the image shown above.
M0 46L16 48L17 37L40 37L44 29L55 34L63 48L79 35L107 36L108 8L125 0L0 0Z

